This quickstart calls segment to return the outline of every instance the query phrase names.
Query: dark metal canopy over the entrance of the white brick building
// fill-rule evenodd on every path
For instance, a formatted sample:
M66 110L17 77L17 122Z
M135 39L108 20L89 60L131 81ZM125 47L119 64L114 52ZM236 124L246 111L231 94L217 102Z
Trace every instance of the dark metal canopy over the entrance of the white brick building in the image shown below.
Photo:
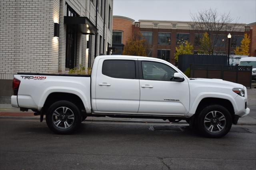
M64 16L64 24L76 24L80 26L80 30L82 34L97 34L97 28L94 24L89 20L89 18L85 16ZM88 25L89 27L87 28ZM90 30L90 33L87 30Z

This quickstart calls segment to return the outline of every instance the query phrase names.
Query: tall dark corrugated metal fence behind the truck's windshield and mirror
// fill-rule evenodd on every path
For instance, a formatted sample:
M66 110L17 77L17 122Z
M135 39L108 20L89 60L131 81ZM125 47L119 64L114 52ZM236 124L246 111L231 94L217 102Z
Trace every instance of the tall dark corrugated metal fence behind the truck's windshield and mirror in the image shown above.
M227 65L227 55L182 54L178 56L178 68L184 72L190 64Z

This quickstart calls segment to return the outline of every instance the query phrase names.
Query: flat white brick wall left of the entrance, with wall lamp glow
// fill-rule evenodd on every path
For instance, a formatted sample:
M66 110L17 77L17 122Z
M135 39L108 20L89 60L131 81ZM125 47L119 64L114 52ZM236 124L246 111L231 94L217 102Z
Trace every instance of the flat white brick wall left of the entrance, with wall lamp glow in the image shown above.
M17 72L57 72L58 40L53 35L58 0L4 0L2 8L0 79L12 79Z

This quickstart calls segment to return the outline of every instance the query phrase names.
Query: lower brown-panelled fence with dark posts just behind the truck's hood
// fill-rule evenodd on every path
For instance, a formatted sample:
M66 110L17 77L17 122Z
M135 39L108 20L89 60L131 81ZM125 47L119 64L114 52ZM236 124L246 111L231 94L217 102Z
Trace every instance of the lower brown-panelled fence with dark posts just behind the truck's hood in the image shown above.
M252 66L191 64L190 77L223 79L252 88Z

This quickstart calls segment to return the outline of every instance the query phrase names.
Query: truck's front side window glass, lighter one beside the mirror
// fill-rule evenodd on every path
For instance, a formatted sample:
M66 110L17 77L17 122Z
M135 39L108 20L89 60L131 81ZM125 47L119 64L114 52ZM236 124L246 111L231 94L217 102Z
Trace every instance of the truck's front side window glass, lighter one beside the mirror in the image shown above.
M163 63L142 61L144 80L173 81L176 71Z

